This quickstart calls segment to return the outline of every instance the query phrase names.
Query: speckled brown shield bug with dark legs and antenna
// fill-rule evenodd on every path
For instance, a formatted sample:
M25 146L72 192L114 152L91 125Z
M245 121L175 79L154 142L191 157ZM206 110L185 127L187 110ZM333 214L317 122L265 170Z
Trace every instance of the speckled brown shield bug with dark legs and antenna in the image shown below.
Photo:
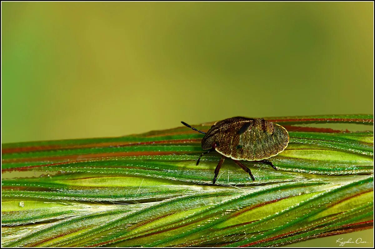
M259 161L266 163L276 170L269 159L284 151L289 143L287 129L279 124L264 120L263 118L233 117L217 121L207 132L203 132L181 121L185 126L205 134L202 139L202 149L208 150L201 157L211 151L217 151L223 156L214 171L213 184L225 157L236 162L243 170L249 173L251 179L255 178L251 170L243 165L240 160Z

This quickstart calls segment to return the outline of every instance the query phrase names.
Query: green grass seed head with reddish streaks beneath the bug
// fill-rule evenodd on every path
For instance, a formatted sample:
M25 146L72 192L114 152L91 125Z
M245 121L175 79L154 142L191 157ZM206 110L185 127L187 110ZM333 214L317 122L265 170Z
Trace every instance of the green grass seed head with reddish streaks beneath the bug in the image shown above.
M1 245L267 247L372 228L373 116L266 119L290 134L278 170L243 161L252 181L226 159L216 185L221 155L196 165L204 135L186 127L3 144Z

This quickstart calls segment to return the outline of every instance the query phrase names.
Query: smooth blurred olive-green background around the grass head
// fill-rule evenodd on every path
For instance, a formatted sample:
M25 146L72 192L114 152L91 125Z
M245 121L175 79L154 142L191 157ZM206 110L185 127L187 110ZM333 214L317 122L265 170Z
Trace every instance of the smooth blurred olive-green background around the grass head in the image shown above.
M3 143L373 113L372 2L1 6Z

